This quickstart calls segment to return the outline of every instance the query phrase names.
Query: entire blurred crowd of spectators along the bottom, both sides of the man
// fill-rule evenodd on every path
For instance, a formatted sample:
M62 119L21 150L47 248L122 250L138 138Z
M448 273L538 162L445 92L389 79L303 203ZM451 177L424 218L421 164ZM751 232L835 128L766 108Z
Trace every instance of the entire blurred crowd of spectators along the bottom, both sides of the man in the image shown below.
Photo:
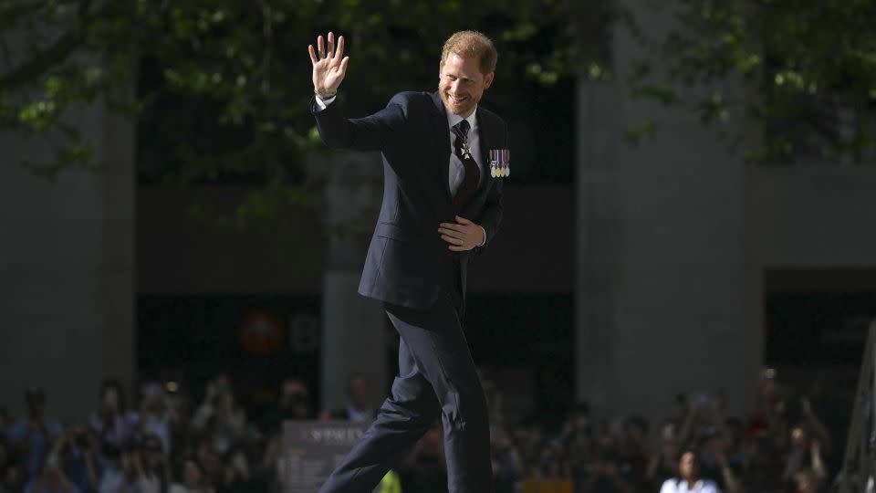
M27 389L26 415L0 416L0 492L279 492L285 420L367 423L379 397L363 376L353 375L348 404L320 410L305 383L287 378L273 404L252 414L228 374L203 388L182 387L143 383L130 400L120 383L106 381L83 395L95 399L94 412L78 423L60 423L49 396ZM730 493L814 493L831 489L839 467L840 445L819 418L819 402L770 372L749 415L727 414L720 392L679 393L667 396L674 399L673 414L653 423L637 415L595 416L584 403L560 420L531 414L509 423L502 390L486 379L485 389L497 493L712 486ZM446 491L444 467L436 422L393 469L384 491Z

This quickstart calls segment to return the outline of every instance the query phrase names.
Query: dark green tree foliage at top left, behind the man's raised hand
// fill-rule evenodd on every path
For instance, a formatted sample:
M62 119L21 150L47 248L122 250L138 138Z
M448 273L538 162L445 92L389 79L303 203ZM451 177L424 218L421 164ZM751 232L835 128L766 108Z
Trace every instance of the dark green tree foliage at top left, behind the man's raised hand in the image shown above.
M31 163L52 177L93 163L93 143L63 117L102 99L138 119L149 179L295 182L315 142L307 47L318 34L332 29L347 39L342 97L349 101L432 88L443 40L473 27L500 45L500 78L552 84L593 55L572 42L578 30L568 23L570 8L578 7L551 0L0 0L0 124L55 146L52 163ZM26 47L9 47L9 39Z

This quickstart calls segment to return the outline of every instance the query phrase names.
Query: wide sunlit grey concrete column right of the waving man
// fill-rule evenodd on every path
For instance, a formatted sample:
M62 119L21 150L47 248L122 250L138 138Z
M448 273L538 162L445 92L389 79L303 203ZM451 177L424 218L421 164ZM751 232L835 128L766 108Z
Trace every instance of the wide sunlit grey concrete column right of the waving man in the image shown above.
M651 5L629 6L645 35L660 39L672 8ZM617 74L646 55L622 28L611 51ZM723 389L729 412L739 414L755 363L744 164L690 110L630 100L615 80L582 82L578 91L579 399L597 412L657 420L675 393ZM646 119L658 125L653 141L622 140L624 128Z

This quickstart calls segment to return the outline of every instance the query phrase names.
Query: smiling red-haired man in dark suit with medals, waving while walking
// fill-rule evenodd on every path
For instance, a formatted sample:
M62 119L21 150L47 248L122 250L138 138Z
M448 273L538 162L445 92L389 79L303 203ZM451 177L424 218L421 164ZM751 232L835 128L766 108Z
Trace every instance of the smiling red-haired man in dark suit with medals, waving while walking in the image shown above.
M383 203L359 292L383 301L401 342L391 396L320 491L370 492L440 416L449 490L491 492L487 408L463 320L466 267L502 220L506 125L477 105L495 47L474 31L454 34L437 92L401 92L359 119L335 101L343 49L332 33L328 51L321 36L309 47L312 109L329 146L382 153Z

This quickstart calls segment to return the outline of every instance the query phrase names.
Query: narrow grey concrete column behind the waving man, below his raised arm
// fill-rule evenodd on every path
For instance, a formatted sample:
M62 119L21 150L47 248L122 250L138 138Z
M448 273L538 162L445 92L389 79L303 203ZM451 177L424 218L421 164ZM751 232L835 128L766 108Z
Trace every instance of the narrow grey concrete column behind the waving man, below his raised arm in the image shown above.
M347 401L354 372L369 380L377 399L386 393L386 316L381 303L357 289L381 205L382 165L376 153L314 154L308 169L325 183L328 256L322 293L322 408Z

